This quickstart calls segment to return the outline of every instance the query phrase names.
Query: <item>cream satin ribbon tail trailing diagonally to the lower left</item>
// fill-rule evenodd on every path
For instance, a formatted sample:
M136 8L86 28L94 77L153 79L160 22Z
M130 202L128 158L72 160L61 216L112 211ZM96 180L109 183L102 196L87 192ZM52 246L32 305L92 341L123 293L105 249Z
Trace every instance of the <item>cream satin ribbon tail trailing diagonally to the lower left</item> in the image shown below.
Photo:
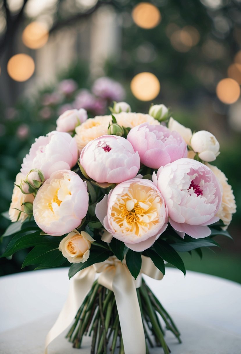
M95 269L90 266L75 274L70 280L67 300L45 341L45 354L48 345L60 335L73 321L84 298L91 289L95 279Z

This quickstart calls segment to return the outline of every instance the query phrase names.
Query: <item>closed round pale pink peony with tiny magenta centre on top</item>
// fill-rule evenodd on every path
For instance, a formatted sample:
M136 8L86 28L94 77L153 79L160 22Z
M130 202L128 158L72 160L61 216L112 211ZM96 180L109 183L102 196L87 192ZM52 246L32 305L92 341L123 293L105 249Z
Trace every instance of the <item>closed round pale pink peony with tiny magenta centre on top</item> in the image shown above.
M96 182L120 183L136 176L140 158L127 139L103 135L83 148L80 164Z

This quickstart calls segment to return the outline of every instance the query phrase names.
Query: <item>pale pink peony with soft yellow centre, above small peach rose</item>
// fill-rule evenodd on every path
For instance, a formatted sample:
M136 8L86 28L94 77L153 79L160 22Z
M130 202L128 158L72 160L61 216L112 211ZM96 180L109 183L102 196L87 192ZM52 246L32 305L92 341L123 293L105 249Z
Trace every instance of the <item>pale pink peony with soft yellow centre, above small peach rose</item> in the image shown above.
M77 173L60 170L43 183L33 203L36 224L48 235L61 236L76 229L86 216L89 196Z

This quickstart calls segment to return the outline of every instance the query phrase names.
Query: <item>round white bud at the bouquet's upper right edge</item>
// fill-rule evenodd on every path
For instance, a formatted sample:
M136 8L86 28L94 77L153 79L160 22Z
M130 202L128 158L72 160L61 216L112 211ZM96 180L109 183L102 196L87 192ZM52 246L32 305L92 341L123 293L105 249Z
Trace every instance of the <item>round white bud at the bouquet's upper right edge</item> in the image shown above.
M214 161L220 154L219 142L212 133L206 130L200 130L194 133L190 145L193 151L197 153L199 158L203 161Z

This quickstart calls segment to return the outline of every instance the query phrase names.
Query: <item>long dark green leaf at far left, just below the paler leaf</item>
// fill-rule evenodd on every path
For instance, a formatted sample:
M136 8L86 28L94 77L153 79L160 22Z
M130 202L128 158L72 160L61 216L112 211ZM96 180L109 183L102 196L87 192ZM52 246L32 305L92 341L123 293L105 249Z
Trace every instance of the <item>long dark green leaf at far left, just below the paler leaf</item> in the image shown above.
M36 245L47 244L49 242L51 242L49 239L47 239L45 236L40 235L40 231L27 235L23 235L22 233L20 233L12 238L1 257L9 257L19 250L23 250L25 248L33 247ZM55 247L56 245L57 244L55 243Z

